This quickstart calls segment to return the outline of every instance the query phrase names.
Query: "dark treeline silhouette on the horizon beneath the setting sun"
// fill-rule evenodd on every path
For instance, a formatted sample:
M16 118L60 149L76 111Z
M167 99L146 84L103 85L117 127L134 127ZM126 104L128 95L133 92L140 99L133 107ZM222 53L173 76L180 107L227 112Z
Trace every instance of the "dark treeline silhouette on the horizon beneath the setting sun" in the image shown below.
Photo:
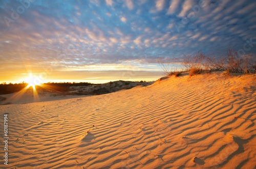
M7 84L6 82L0 84L0 94L10 94L14 93L17 91L22 90L23 88L27 87L29 84L28 83L9 83ZM92 83L88 82L48 82L44 83L41 85L36 85L35 88L36 90L42 90L42 89L48 89L48 90L56 90L56 91L70 91L69 87L70 86L89 86L89 85L94 85ZM32 86L31 86L32 88Z

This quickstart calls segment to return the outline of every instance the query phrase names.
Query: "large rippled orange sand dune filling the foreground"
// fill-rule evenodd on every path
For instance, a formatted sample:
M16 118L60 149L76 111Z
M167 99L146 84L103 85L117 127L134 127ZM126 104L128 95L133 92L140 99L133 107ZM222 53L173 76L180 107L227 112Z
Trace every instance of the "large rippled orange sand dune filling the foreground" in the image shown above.
M255 80L183 75L104 95L2 105L8 167L255 168Z

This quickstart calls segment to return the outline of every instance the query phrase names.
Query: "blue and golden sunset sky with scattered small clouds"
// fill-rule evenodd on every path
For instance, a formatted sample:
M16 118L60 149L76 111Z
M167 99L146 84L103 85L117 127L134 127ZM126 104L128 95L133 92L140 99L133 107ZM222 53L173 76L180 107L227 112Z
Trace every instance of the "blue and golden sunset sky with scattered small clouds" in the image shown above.
M0 82L154 81L159 56L255 54L255 9L255 0L1 0Z

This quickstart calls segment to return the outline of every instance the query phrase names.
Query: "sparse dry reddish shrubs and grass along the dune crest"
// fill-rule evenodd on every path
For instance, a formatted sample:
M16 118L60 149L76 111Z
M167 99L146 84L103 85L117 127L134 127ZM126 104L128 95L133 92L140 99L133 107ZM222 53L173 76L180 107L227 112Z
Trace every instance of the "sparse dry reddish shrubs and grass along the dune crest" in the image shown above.
M230 73L252 74L256 72L256 56L248 54L240 57L239 54L228 49L226 55L216 57L215 55L205 55L201 51L195 55L184 55L180 64L184 67L183 71L189 71L189 76L194 76L210 71L224 71L224 75ZM181 75L181 72L172 67L172 64L165 63L162 57L158 57L158 64L164 70L165 75Z

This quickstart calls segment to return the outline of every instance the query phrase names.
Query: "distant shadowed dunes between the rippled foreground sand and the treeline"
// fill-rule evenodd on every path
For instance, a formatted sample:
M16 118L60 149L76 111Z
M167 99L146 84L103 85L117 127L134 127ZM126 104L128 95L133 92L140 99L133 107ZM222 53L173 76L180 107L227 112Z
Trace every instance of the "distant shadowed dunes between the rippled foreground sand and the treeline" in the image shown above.
M80 98L81 96L99 95L119 90L131 89L133 87L142 87L153 84L154 82L132 82L132 81L115 81L103 84L93 84L89 86L71 86L69 91L57 91L43 87L34 92L33 88L26 88L11 94L0 95L0 105L9 104L26 104L33 102L46 102L63 99Z

